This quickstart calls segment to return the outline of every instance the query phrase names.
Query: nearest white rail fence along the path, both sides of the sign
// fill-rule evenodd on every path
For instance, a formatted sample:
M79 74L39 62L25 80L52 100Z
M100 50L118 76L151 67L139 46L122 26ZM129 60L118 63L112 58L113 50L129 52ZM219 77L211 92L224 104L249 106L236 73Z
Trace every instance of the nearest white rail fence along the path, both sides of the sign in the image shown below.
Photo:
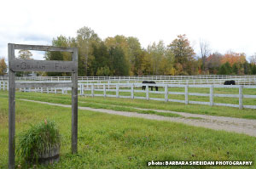
M145 86L146 90L141 88ZM150 87L161 87L164 88L163 91L150 91ZM184 92L171 92L169 88L172 87L182 87ZM209 93L189 93L189 88L208 88ZM220 94L213 93L214 88L238 88L238 94ZM147 100L158 100L165 102L178 102L183 104L206 104L206 105L219 105L228 107L237 107L256 109L256 101L254 105L243 104L243 99L256 99L256 95L249 95L243 93L243 88L255 88L256 86L248 85L183 85L183 84L142 84L142 83L79 83L79 95L91 96L91 97L113 97L113 98L126 98L126 99L147 99ZM0 82L0 89L8 89L8 82ZM20 92L39 92L39 93L62 93L67 94L71 90L70 87L34 87L34 88L20 88ZM102 92L102 93L97 93ZM107 92L112 92L114 94L107 94ZM121 95L120 93L129 93L128 95ZM136 93L145 93L145 97L136 96ZM149 93L161 94L161 98L150 97ZM172 95L183 95L184 99L175 99ZM203 96L208 97L209 102L193 101L189 100L189 96ZM213 100L216 97L223 98L237 98L239 99L239 104L224 104L215 103Z

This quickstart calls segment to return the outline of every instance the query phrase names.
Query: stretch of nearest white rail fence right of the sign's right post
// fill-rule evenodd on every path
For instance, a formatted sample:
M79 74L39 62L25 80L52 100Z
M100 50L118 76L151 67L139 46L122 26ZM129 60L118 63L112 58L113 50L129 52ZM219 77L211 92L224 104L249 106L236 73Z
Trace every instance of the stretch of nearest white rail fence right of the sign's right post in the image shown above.
M147 100L158 100L158 101L165 101L165 102L178 102L183 104L207 104L207 105L220 105L220 106L229 106L229 107L237 107L239 109L242 108L250 108L256 109L256 102L255 105L244 105L242 100L243 98L248 99L256 99L256 95L247 95L243 94L243 88L256 88L256 86L243 86L243 85L234 85L234 86L226 86L226 85L177 85L177 84L142 84L142 83L117 83L117 84L90 84L90 87L86 87L84 84L79 84L80 95L87 95L91 97L95 96L102 96L102 97L113 97L113 98L127 98L127 99L147 99ZM102 86L102 87L101 87ZM146 90L136 90L137 87L146 86ZM149 87L163 87L164 91L149 91ZM125 89L120 89L120 87L126 87ZM170 87L183 87L184 93L180 92L170 92L168 88ZM197 88L209 88L209 93L189 93L189 87L197 87ZM128 89L127 89L128 88ZM213 93L213 88L238 88L239 94L218 94ZM90 93L84 93L84 91L90 91ZM96 91L101 91L103 94L96 94ZM107 92L115 92L114 95L107 94ZM129 96L121 96L119 93L125 92L130 93ZM145 97L136 97L135 93L146 93ZM157 93L162 94L162 98L150 98L149 93ZM172 98L171 95L184 95L184 100L179 99L169 99L169 96ZM189 96L204 96L209 97L209 102L200 102L200 101L192 101L189 100ZM223 103L214 103L214 97L224 97L224 98L238 98L239 104L223 104Z

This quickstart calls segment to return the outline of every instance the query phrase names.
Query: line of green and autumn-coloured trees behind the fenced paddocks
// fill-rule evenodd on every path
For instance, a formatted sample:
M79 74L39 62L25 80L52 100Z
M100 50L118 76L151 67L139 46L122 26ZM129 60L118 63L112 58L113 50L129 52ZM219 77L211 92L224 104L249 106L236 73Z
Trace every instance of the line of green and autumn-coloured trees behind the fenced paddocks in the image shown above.
M244 53L211 53L209 44L201 40L201 54L196 55L186 35L178 35L168 45L160 41L142 48L137 37L117 35L102 40L95 31L84 26L76 37L53 38L52 45L79 48L79 76L256 75L256 54L248 62ZM30 57L29 51L21 51L18 58ZM44 58L71 60L71 54L46 52ZM51 72L44 75L70 76Z

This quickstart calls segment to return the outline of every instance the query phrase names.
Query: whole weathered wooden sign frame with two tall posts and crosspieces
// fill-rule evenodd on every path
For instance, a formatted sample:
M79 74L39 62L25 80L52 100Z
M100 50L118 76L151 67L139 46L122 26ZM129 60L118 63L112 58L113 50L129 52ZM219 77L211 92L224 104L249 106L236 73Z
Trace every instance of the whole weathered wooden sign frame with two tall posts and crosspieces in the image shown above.
M72 53L72 61L15 59L15 49ZM72 153L78 150L78 48L8 44L9 58L9 168L15 168L15 88L72 87ZM71 72L72 82L15 83L16 71Z

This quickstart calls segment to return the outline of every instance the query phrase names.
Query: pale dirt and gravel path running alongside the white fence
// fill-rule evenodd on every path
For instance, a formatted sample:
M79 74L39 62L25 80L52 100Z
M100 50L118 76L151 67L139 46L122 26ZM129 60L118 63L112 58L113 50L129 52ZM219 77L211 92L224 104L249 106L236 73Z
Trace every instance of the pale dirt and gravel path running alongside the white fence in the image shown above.
M61 107L71 107L71 105L65 105L65 104L51 104L48 102L40 102L40 101L27 100L27 99L20 99L20 100L35 102L35 103L39 103L39 104L49 104L49 105L56 105L56 106L61 106ZM195 115L195 114L190 114L190 113L167 111L167 110L154 110L154 111L175 113L178 115L183 115L185 117L199 117L201 119L189 119L189 118L182 118L182 117L166 117L166 116L161 116L161 115L138 114L135 112L94 109L94 108L90 108L90 107L79 107L79 109L108 113L108 114L112 114L112 115L140 117L140 118L144 118L144 119L157 120L157 121L182 122L182 123L196 126L196 127L206 127L206 128L211 128L214 130L238 132L238 133L244 133L244 134L256 137L256 120L247 120L247 119L240 119L240 118L233 118L233 117L221 117L221 116L213 116L213 115ZM136 109L148 110L148 109L139 109L139 108L136 108Z

